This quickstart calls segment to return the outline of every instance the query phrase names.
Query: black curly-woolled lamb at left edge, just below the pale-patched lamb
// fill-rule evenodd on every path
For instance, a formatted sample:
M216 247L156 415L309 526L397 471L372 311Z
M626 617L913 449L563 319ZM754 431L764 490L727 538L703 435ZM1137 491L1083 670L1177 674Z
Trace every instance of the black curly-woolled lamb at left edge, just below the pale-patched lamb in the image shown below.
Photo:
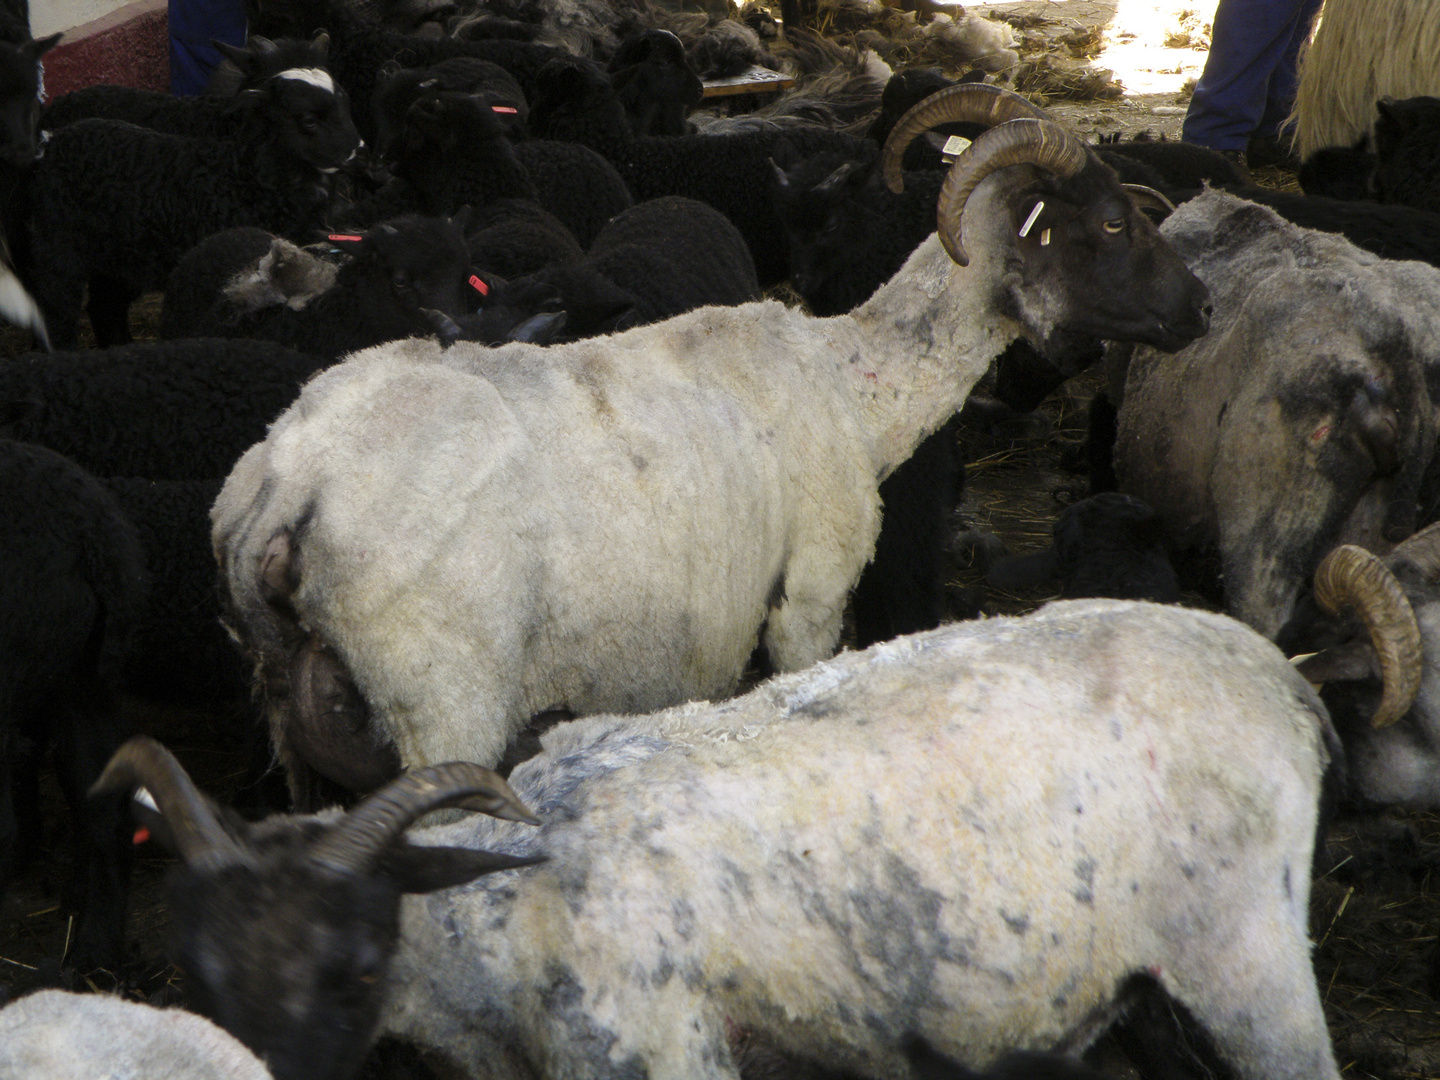
M0 359L9 433L99 477L223 477L324 361L269 341L140 341Z

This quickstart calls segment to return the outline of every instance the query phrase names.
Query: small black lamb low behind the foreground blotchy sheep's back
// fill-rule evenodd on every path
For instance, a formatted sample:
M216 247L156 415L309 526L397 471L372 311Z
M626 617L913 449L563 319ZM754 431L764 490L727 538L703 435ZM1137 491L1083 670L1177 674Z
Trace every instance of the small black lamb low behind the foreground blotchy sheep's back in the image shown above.
M1044 552L991 567L991 585L1018 589L1060 579L1066 599L1179 600L1179 582L1165 547L1165 526L1133 495L1110 491L1066 507L1056 541Z

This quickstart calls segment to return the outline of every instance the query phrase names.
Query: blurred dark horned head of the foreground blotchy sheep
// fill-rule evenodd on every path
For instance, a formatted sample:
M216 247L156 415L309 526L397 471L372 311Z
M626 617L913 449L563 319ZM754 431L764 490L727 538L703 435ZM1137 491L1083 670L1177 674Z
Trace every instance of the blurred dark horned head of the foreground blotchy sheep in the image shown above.
M166 881L170 953L193 1007L275 1080L346 1080L379 1025L400 897L541 861L419 847L405 831L458 806L539 824L495 773L412 769L344 815L249 824L202 795L160 743L125 743L92 795L148 792L143 824L181 858Z

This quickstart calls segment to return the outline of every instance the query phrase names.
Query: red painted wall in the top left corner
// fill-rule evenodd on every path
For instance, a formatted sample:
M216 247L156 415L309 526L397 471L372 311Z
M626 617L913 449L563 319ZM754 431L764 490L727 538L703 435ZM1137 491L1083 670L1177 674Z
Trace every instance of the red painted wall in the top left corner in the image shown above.
M168 91L166 0L135 0L66 30L63 40L45 53L43 63L50 98L96 82Z

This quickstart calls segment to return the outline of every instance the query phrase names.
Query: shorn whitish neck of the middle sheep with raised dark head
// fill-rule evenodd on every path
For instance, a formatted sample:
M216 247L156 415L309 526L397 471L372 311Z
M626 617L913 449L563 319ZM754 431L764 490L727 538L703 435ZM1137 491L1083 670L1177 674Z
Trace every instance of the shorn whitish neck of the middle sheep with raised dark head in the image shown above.
M870 341L851 357L876 472L887 477L953 416L991 361L1021 336L995 310L986 282L995 256L972 251L958 266L932 235L900 272L850 315Z

